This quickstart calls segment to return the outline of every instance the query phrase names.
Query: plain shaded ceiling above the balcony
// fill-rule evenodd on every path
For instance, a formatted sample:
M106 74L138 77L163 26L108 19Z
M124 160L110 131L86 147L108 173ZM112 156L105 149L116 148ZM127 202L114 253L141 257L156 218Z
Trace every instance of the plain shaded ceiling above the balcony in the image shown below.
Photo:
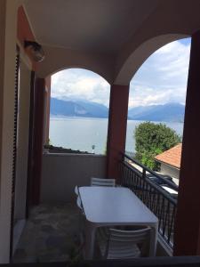
M37 42L117 53L163 0L25 0Z

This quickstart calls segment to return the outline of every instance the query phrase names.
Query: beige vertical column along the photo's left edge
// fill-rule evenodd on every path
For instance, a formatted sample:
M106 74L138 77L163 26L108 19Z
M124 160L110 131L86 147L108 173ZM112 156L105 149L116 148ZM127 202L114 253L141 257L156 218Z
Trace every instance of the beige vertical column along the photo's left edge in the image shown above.
M0 1L0 263L9 263L17 31L16 1Z

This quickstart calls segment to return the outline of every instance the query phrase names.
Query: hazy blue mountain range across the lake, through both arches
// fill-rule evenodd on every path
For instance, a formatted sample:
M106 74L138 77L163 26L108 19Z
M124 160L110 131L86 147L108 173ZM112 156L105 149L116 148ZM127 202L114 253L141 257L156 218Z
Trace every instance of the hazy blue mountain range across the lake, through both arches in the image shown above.
M129 109L128 118L145 121L183 122L185 106L180 103L140 106ZM51 98L51 116L108 117L108 108L92 101Z

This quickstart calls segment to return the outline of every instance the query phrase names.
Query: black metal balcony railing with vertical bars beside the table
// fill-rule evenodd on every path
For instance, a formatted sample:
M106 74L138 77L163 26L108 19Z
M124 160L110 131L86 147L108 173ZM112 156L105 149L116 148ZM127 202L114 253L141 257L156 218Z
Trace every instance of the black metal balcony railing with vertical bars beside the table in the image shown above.
M173 248L174 219L177 195L164 190L152 178L178 192L178 186L159 174L141 165L135 159L122 154L120 162L121 185L130 188L158 218L158 231L164 241Z

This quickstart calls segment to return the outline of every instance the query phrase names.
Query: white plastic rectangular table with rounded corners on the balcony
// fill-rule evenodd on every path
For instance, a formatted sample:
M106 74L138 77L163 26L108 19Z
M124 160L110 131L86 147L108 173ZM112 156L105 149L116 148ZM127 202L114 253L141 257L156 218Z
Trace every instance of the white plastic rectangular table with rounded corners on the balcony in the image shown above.
M157 217L132 190L124 187L85 186L79 188L79 194L86 217L86 259L92 259L97 228L110 225L150 226L150 256L156 255Z

